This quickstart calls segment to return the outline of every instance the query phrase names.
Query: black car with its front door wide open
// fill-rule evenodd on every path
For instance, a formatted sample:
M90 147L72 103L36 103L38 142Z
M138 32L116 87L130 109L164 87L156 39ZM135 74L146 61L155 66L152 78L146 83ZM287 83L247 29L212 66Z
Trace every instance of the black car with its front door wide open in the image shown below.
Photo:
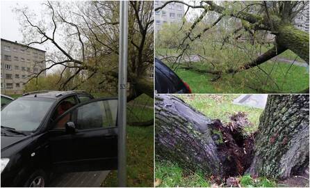
M117 97L26 93L1 111L1 187L44 187L56 172L117 169Z

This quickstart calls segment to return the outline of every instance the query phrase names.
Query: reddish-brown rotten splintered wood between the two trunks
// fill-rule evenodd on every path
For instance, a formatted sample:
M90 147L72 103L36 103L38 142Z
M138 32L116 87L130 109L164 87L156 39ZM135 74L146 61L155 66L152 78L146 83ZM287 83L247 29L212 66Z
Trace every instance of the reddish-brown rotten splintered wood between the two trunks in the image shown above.
M252 125L246 114L233 114L231 122L223 125L213 120L212 139L218 145L218 151L224 166L225 177L243 175L250 167L254 156L254 136L245 136L244 127Z

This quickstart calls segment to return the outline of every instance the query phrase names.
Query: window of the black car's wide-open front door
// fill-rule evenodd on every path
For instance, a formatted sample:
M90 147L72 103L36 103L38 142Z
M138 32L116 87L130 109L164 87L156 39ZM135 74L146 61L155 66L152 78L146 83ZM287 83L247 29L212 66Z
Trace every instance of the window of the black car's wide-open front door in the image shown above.
M65 127L67 122L73 122L77 130L115 127L117 123L117 100L100 100L77 107L56 125Z

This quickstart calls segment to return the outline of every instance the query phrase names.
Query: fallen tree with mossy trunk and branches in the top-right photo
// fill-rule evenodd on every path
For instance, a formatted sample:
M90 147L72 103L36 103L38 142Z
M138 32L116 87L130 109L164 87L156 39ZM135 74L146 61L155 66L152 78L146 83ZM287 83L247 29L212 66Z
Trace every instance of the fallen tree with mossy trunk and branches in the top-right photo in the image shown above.
M185 22L183 22L181 29L184 30L185 36L179 41L180 44L177 49L179 53L174 58L174 64L180 64L181 58L185 54L202 54L201 52L199 53L199 51L195 52L192 48L195 48L195 46L205 41L211 42L209 38L204 38L204 35L211 36L211 33L218 33L220 31L219 25L223 23L222 20L226 19L226 22L227 20L229 20L229 22L236 22L233 20L238 20L238 22L236 22L236 28L220 42L222 45L217 50L218 53L222 51L225 44L227 44L227 47L230 46L229 38L231 38L231 41L234 41L234 48L237 48L236 43L239 43L238 38L240 38L240 36L243 36L247 40L252 40L252 46L259 47L265 43L262 42L263 38L257 37L262 33L269 33L275 36L275 38L272 39L273 46L268 47L266 52L259 56L254 55L244 60L243 58L246 57L247 54L251 54L251 49L248 53L245 53L242 58L238 59L238 61L233 62L229 60L224 68L219 67L213 70L206 68L207 70L201 70L188 67L186 69L201 73L211 73L213 75L218 75L218 77L224 74L236 74L237 72L243 72L244 70L266 63L279 54L286 52L288 49L309 65L309 33L297 29L294 26L295 18L303 15L304 11L308 11L309 1L238 1L238 3L233 1L195 1L195 3L165 1L162 6L155 8L155 10L161 10L170 3L182 3L188 10L190 8L201 10L194 22L188 22L190 24L188 29L183 29L185 25ZM239 6L235 6L236 4L239 4ZM188 11L186 11L186 13L188 13ZM186 13L184 17L186 17ZM210 14L216 16L217 19L211 24L206 24L205 20L209 20L208 16ZM226 27L228 26L224 28L226 29ZM213 29L213 31L208 33L207 31L210 29ZM220 33L218 33L218 35L220 35ZM215 37L213 38L215 43L218 42L218 39ZM254 42L254 40L256 42ZM202 45L202 47L204 47L204 45ZM215 47L213 50L216 50ZM209 54L211 53L214 52L209 52ZM239 61L242 63L239 63ZM205 60L204 63L211 62ZM307 93L307 91L309 91L309 88L305 88L303 91L297 91L296 93Z

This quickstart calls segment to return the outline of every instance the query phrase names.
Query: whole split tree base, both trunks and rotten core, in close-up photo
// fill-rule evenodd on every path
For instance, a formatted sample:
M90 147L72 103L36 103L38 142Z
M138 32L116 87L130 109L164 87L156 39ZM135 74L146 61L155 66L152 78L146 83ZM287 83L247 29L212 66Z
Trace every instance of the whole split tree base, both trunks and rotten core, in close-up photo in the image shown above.
M218 178L245 172L288 178L309 165L309 95L268 97L259 131L251 135L244 132L251 126L244 113L223 125L173 95L155 99L159 159Z

